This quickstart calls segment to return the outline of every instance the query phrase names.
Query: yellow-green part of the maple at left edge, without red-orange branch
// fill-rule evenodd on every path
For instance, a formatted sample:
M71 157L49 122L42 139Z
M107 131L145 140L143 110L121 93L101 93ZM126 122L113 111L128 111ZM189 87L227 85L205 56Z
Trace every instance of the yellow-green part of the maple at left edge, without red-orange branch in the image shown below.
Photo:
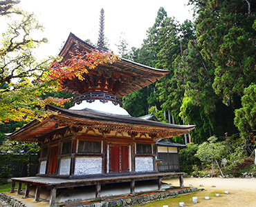
M0 124L45 115L45 104L39 97L56 88L53 81L39 81L46 77L51 59L37 61L33 55L33 49L47 42L31 35L43 31L43 26L33 14L15 7L11 10L16 12L8 15L10 23L0 39Z

